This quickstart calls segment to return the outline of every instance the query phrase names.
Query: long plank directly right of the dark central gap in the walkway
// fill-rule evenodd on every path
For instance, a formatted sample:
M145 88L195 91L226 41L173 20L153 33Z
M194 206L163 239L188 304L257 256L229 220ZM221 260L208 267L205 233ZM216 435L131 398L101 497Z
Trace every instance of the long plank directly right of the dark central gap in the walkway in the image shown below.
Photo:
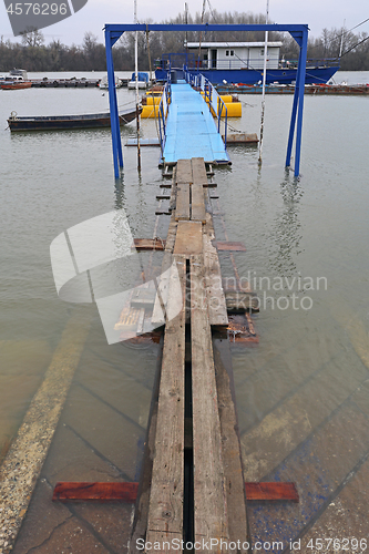
M221 541L228 540L228 521L203 256L189 266L195 540Z

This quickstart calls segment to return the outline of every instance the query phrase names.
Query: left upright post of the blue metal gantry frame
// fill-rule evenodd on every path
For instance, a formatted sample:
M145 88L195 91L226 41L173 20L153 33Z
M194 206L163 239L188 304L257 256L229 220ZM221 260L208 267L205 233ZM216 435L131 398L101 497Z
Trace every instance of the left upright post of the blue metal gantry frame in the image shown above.
M117 103L116 103L114 65L112 55L112 38L109 30L105 30L105 50L106 50L106 70L107 70L107 85L109 85L110 122L112 129L114 175L115 178L119 178L120 167L123 167L123 154L122 154Z

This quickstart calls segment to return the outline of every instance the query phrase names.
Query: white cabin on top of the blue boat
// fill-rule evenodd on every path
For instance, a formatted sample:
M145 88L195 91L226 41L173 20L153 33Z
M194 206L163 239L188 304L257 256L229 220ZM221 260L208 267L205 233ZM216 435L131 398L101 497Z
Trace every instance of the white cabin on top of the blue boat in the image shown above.
M195 54L196 65L215 70L260 70L264 66L264 42L187 42L188 54ZM281 42L268 42L267 69L278 69ZM199 60L198 60L199 58Z

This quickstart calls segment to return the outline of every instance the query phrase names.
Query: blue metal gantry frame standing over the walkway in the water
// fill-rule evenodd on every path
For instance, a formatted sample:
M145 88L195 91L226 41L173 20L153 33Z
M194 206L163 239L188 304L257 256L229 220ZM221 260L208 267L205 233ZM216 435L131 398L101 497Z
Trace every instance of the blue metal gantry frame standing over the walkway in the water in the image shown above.
M106 68L107 68L107 84L109 84L109 102L110 115L112 125L112 143L113 143L113 161L115 178L120 176L120 167L123 167L122 141L120 120L117 112L114 64L112 55L112 47L122 37L125 31L280 31L289 32L300 48L298 69L296 75L296 86L293 102L293 112L289 126L289 136L287 143L286 167L290 166L290 158L294 144L295 129L296 131L296 148L295 148L295 175L299 175L300 170L300 153L301 153L301 133L303 133L303 110L304 110L304 90L306 78L306 57L309 28L306 24L145 24L145 23L126 23L126 24L105 24L105 49L106 49ZM297 120L297 125L296 125Z

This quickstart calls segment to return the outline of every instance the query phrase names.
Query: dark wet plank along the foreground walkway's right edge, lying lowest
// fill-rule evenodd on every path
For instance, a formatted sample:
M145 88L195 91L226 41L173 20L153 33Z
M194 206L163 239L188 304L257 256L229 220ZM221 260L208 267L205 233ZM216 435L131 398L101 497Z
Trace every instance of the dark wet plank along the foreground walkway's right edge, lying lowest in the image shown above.
M227 493L229 541L239 541L240 544L244 544L247 542L247 515L229 341L214 339L213 351ZM244 548L240 548L239 552L246 553Z

